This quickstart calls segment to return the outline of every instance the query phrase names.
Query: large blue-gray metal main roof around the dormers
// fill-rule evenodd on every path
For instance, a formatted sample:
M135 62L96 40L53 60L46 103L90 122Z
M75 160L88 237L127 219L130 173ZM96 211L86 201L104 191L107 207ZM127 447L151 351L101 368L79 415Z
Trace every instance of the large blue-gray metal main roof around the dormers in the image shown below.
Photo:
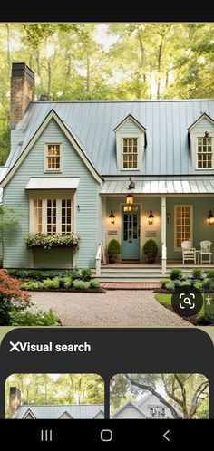
M147 135L141 170L131 171L132 175L196 175L187 129L204 112L214 118L214 101L36 101L17 124L20 141L6 166L12 167L51 110L63 120L102 176L122 174L117 167L113 130L130 114L146 128Z

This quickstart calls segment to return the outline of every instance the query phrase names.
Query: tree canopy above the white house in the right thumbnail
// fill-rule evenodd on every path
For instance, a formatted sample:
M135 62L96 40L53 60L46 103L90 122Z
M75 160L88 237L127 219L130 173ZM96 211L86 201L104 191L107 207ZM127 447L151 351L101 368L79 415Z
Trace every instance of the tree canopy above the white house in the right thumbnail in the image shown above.
M200 374L118 374L111 380L112 413L148 392L173 418L209 417L209 381Z

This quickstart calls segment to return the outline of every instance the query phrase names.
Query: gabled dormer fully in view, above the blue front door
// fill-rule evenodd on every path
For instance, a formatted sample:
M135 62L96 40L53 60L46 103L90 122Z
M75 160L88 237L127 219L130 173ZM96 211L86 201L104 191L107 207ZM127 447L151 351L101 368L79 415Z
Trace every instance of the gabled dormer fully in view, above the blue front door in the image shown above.
M116 133L119 170L140 170L146 145L146 129L129 114L113 131Z

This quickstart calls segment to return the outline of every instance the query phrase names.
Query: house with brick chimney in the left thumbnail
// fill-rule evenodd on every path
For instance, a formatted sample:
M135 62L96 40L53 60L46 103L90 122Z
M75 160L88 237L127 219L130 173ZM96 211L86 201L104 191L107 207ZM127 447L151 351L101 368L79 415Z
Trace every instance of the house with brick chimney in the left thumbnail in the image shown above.
M9 417L11 419L103 419L103 404L35 405L21 404L21 392L10 387Z

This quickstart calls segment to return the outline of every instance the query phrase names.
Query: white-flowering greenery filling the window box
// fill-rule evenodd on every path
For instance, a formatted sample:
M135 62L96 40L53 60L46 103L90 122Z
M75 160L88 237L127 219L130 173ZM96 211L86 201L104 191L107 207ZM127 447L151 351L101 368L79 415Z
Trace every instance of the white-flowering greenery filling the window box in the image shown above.
M34 247L43 247L44 249L53 249L54 247L77 247L80 242L79 235L71 232L70 234L29 234L24 239L27 249Z

